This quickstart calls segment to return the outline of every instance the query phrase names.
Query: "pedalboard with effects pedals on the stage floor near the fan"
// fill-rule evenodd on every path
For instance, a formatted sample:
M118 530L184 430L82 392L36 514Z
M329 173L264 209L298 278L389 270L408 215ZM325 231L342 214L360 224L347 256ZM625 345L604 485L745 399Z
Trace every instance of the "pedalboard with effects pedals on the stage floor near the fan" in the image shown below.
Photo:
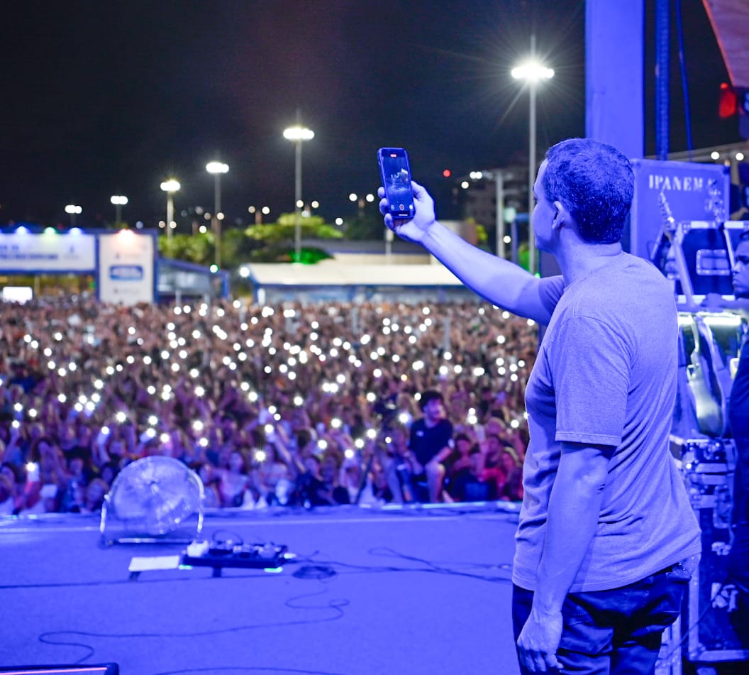
M213 576L221 576L225 567L243 569L279 569L293 554L288 554L285 545L234 544L233 542L192 542L181 557L186 567L210 567Z

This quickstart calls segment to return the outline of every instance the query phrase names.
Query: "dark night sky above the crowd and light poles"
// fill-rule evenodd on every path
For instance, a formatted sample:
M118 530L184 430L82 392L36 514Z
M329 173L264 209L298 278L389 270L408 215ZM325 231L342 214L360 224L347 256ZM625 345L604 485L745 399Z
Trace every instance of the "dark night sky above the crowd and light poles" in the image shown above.
M652 4L646 30L646 154L652 132ZM682 0L697 148L736 142L720 121L727 74L701 0ZM443 169L527 162L527 94L509 70L530 32L556 75L538 97L539 153L584 134L583 0L34 1L4 7L0 30L0 223L82 225L164 218L159 186L182 184L177 214L213 208L205 164L222 178L228 223L249 205L271 220L294 206L297 108L303 196L328 220L351 217L351 192L373 192L375 151L402 145L414 178L435 191ZM676 34L673 35L676 49ZM686 148L672 59L671 149ZM437 205L439 209L439 204Z

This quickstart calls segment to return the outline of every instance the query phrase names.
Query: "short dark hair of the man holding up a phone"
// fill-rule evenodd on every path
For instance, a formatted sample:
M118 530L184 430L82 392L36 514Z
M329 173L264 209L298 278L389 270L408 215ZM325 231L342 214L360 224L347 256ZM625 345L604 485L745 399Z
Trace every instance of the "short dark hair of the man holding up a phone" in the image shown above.
M567 139L546 153L544 192L562 202L580 237L589 243L616 243L634 196L634 172L613 145L592 139Z

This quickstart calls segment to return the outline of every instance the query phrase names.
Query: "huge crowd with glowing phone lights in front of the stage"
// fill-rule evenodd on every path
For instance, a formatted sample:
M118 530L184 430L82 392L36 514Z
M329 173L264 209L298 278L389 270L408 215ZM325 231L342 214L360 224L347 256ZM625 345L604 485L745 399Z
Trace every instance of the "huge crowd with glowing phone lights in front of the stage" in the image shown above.
M520 500L536 347L477 301L6 304L0 515L96 512L149 455L209 508Z

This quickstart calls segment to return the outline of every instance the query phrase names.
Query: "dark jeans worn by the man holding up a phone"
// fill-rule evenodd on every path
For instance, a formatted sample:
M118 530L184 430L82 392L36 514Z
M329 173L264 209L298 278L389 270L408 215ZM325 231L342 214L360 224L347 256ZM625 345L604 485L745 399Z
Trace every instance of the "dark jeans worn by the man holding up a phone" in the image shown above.
M562 673L651 675L661 635L677 617L687 580L670 570L613 590L569 593L557 659ZM533 591L512 587L515 642L530 615ZM521 666L521 674L528 671Z

